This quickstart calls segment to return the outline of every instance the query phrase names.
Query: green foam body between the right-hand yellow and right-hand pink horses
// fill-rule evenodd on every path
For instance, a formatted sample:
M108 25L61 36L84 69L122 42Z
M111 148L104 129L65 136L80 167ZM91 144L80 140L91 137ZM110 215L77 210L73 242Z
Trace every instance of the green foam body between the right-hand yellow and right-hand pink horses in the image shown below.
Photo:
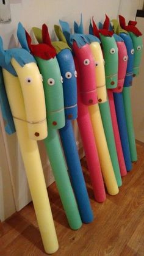
M115 42L114 37L107 37L100 34L101 43L103 45L103 53L104 53L104 60L105 60L105 73L106 73L106 87L107 89L113 89L117 87L118 82L118 48ZM110 158L112 160L113 170L115 172L115 177L117 179L118 186L121 186L121 177L120 177L120 167L118 163L118 156L117 156L117 148L115 139L118 138L119 134L113 134L113 125L115 125L115 121L117 119L111 119L113 114L108 116L107 114L110 112L104 111L104 106L99 104L99 109L101 111L101 117L103 120L104 132L106 134L107 145L109 148ZM112 108L110 108L112 109ZM116 123L117 125L117 123ZM116 130L115 130L116 131Z

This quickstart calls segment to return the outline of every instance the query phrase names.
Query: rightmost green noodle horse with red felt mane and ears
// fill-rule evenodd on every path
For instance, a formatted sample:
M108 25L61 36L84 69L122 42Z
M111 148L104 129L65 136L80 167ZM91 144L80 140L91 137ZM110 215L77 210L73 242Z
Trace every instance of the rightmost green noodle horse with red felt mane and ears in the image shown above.
M132 120L132 109L131 109L131 96L130 96L130 86L132 86L132 76L138 76L139 75L139 66L140 61L142 59L142 33L137 29L136 24L137 21L129 21L128 26L126 26L126 21L123 16L119 15L120 20L120 26L122 29L128 32L120 32L120 36L123 38L124 43L126 44L126 47L129 52L129 56L134 56L134 67L132 67L131 60L132 57L128 60L129 62L129 68L132 68L131 72L126 76L124 80L124 89L123 89L123 101L124 101L124 111L126 115L126 125L128 129L128 139L129 139L129 148L131 152L131 161L137 161L137 150L135 145L135 134L134 134L134 125ZM130 38L129 38L130 37ZM133 48L131 48L131 43L129 42L130 39L132 40ZM129 49L130 46L130 49Z

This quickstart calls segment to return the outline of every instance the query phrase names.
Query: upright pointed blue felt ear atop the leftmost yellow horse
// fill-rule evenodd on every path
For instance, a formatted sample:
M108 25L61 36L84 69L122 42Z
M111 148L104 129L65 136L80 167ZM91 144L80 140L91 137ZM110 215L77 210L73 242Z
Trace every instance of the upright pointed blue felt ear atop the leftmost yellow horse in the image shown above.
M21 47L26 49L30 53L30 49L29 49L29 46L27 44L27 39L26 39L26 31L20 22L18 23L17 37L21 44Z

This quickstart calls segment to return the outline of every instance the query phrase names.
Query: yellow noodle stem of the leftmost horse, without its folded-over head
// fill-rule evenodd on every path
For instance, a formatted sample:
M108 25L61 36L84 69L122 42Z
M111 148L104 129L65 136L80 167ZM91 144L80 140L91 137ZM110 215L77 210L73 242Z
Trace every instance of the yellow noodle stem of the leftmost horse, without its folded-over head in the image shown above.
M16 70L18 69L16 64ZM21 68L20 68L21 70ZM34 69L34 74L37 69ZM5 89L10 103L10 109L13 115L18 114L21 119L26 120L26 111L19 79L11 75L7 70L3 70ZM27 86L27 84L26 84ZM29 85L28 85L29 86ZM39 84L40 86L40 84ZM40 86L41 87L41 86ZM42 88L41 88L42 89ZM41 102L42 103L42 102ZM43 111L45 105L43 102ZM41 106L42 110L42 106ZM43 115L43 113L41 113ZM45 178L38 152L37 142L29 138L27 122L14 119L16 134L20 143L21 154L26 169L27 180L34 203L35 213L37 216L38 226L40 228L41 238L45 251L49 254L54 253L58 249L58 241L54 222L52 219L51 207L49 205L48 194L45 185Z

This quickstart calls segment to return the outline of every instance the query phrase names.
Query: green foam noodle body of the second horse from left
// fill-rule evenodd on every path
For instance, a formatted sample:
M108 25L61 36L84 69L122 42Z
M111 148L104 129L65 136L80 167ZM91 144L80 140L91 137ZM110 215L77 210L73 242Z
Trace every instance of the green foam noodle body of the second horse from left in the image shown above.
M71 229L79 229L82 222L56 130L65 125L62 79L60 78L59 64L56 57L49 60L40 59L38 57L35 57L35 59L37 59L38 67L43 75L46 110L48 113L48 127L50 131L49 136L45 139L46 150L70 227ZM54 81L52 86L48 83L49 79L53 79L52 81ZM55 109L55 112L52 114L52 123L49 124L49 115L51 116L53 109ZM54 126L56 126L56 131L54 131Z

